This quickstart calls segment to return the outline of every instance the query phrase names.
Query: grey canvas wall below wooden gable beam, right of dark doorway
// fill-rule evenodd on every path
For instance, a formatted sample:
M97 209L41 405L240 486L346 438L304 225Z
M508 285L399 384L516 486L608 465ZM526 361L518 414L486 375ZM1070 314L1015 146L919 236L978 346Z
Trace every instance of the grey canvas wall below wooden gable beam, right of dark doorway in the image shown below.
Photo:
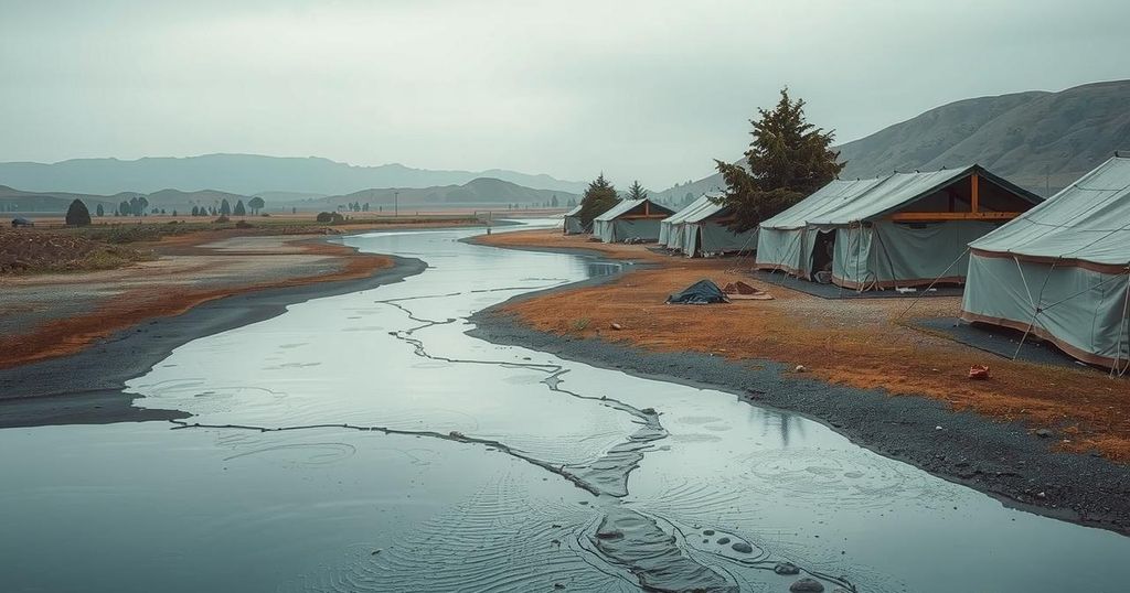
M832 278L852 289L964 282L968 267L966 245L994 228L992 223L976 220L925 225L880 221L840 228Z

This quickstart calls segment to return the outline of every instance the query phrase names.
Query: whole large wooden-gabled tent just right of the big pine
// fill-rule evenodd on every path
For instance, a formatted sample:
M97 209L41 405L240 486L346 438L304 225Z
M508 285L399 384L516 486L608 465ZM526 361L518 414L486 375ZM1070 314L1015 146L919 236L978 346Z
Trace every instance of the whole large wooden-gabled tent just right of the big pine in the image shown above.
M966 245L1040 201L980 165L836 180L760 224L756 265L855 290L960 284Z

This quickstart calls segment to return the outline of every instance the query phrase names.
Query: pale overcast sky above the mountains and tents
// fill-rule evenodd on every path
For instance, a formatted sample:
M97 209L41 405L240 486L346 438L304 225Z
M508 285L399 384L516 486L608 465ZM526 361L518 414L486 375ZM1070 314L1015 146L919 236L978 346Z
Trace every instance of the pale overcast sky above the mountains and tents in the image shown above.
M840 141L1130 78L1127 0L0 0L0 160L255 152L653 189L789 85Z

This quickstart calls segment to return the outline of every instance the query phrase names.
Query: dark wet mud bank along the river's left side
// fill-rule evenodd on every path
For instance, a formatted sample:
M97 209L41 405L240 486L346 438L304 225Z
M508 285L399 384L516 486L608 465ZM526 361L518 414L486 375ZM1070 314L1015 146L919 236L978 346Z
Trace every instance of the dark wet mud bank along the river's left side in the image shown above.
M399 282L426 268L418 259L393 258L392 267L364 278L234 294L116 331L72 355L0 368L0 428L185 418L182 411L132 405L137 395L122 391L125 381L192 340L269 320L295 303Z

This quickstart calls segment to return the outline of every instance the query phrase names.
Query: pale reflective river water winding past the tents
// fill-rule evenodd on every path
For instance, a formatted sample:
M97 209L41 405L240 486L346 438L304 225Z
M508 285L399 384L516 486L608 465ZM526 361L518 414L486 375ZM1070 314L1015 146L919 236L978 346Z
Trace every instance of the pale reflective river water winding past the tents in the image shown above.
M1130 538L729 393L464 335L616 271L473 233L348 237L429 268L129 382L186 422L0 430L0 591L1130 590Z

